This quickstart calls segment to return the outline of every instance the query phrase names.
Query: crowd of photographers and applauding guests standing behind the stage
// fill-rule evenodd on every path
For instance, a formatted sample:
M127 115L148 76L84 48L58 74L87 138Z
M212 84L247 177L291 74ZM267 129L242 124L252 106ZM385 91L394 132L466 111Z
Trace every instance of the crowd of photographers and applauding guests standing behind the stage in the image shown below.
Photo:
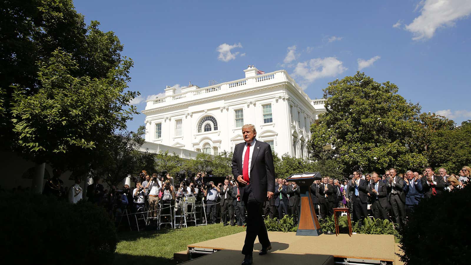
M421 174L412 170L398 174L395 168L382 175L355 171L344 180L323 177L314 181L309 190L321 221L333 215L333 208L347 207L353 221L362 225L363 219L369 216L369 206L371 216L390 220L400 228L422 198L462 189L471 179L470 171L469 166L463 166L458 175L448 174L445 168L440 168L439 174L435 174L431 167L426 167ZM65 189L60 175L60 170L53 170L53 177L44 186L44 194L52 194L71 203L86 197L88 201L105 207L116 221L126 209L128 214L139 210L148 212L147 216L154 220L162 203L181 207L184 213L195 211L187 203L188 198L195 197L195 205L201 209L196 217L198 224L213 224L220 218L224 225L245 225L244 201L240 198L238 183L231 175L217 185L212 181L205 183L204 172L175 183L167 172L150 175L142 170L133 189L124 185L121 189L111 186L106 190L96 178L87 187L86 194L83 194L79 177L75 178L73 186ZM275 179L274 196L264 202L263 213L272 219L291 215L294 224L298 224L300 187L283 178ZM187 215L187 218L191 220L193 216Z

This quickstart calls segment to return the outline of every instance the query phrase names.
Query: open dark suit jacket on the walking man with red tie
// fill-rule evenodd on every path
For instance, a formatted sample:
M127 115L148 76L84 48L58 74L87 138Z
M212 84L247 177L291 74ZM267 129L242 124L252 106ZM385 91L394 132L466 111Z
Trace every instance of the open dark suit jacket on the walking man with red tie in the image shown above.
M242 175L242 152L244 152L245 142L235 145L232 155L232 174L234 179ZM267 200L267 191L275 192L275 167L273 166L273 157L270 145L266 142L255 139L252 161L250 166L250 183L252 186L253 197L260 203ZM244 187L239 183L241 196L244 195Z

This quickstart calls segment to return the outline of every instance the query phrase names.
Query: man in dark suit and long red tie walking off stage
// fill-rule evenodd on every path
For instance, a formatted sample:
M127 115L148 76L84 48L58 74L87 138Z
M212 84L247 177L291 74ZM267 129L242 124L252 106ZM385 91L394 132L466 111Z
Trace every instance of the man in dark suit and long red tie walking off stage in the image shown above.
M262 245L259 255L267 254L271 249L267 228L262 216L265 200L271 199L275 191L275 167L268 143L257 141L257 131L253 124L242 126L244 143L234 148L232 156L232 174L239 182L239 190L247 209L247 231L245 233L245 255L243 265L252 264L253 243L257 236Z

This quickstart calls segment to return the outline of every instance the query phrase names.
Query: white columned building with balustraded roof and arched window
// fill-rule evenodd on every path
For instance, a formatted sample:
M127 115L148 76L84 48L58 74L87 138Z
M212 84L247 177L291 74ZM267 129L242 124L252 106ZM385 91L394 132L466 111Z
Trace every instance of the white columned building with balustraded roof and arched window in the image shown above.
M256 138L280 157L306 157L309 128L325 112L325 100L310 99L285 70L257 71L249 66L243 79L203 88L190 84L180 93L167 87L164 97L148 100L142 111L146 147L184 149L189 157L195 151L214 155L243 142L242 125L254 124Z

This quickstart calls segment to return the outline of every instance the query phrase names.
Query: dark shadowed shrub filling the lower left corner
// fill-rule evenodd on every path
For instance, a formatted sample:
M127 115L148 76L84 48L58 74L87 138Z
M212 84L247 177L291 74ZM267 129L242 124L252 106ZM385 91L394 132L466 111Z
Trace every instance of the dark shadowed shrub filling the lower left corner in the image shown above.
M52 196L0 195L2 251L22 264L111 264L117 236L105 210ZM5 229L6 228L6 229Z

